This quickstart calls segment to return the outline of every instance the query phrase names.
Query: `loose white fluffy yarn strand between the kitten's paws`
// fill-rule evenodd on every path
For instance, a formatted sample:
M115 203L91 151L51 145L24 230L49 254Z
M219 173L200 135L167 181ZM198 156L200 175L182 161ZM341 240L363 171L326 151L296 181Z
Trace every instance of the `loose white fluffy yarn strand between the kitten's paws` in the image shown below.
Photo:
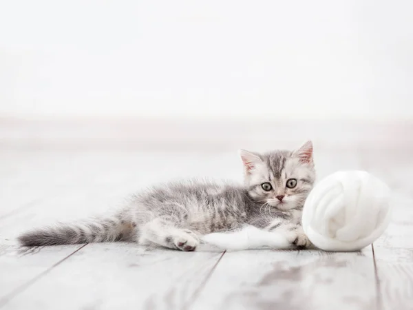
M264 231L254 226L245 226L231 232L216 232L202 237L203 242L226 250L244 249L293 249L285 234Z

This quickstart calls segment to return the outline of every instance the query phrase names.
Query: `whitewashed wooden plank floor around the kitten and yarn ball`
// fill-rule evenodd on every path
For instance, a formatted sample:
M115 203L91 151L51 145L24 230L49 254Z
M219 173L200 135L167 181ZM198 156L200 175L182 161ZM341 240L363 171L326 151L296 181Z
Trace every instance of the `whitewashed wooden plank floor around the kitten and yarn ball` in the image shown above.
M21 231L82 218L176 177L241 180L234 152L3 149L0 309L413 309L411 152L316 149L319 177L367 169L394 219L357 253L146 250L127 243L22 249Z

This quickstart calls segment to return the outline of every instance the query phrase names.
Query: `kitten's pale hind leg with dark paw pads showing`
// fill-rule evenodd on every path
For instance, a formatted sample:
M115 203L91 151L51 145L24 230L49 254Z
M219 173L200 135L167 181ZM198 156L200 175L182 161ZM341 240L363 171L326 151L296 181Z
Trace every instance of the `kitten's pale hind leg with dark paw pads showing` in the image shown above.
M142 227L139 243L148 242L182 251L193 251L199 244L198 236L193 231L176 227L176 221L170 216L155 218Z

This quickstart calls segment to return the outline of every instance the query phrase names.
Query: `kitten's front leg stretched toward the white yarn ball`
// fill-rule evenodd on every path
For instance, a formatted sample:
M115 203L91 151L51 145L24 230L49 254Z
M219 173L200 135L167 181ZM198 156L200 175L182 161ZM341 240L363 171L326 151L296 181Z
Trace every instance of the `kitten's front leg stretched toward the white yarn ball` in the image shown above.
M310 239L304 234L303 227L280 218L273 220L273 222L266 227L268 231L277 231L286 236L286 238L297 247L313 247Z

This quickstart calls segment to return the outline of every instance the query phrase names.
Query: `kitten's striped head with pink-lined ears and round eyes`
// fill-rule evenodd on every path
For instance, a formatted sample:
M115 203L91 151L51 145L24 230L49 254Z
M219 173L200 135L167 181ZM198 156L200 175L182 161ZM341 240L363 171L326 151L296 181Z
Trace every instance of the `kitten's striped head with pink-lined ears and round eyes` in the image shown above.
M240 154L251 198L284 211L304 205L315 181L311 141L293 152L258 154L242 149Z

